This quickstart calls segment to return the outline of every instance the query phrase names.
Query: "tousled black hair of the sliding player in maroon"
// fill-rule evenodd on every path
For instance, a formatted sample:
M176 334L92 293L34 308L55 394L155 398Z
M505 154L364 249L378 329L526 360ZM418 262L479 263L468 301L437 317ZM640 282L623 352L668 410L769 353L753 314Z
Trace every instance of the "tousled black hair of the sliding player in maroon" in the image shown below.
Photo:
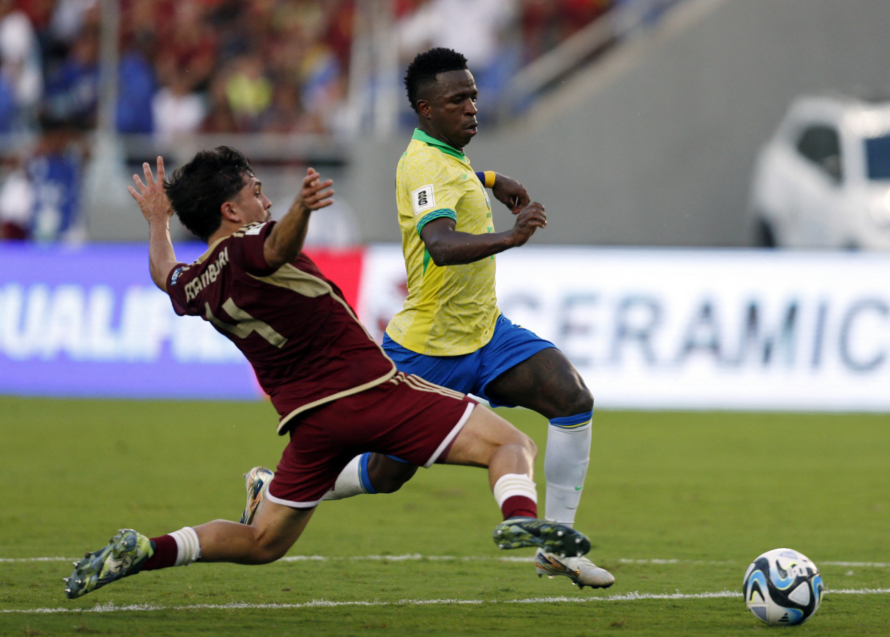
M174 170L164 189L182 225L206 241L223 222L220 208L253 174L240 150L217 146L199 151L188 164Z

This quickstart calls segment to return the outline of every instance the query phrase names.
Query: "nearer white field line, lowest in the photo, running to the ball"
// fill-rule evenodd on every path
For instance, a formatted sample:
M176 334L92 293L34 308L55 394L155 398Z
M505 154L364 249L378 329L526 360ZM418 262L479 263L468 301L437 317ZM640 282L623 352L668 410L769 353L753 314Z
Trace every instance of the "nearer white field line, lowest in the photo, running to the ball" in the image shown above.
M886 595L890 594L890 588L857 588L837 589L826 591L825 594L846 595ZM460 605L498 605L498 604L551 604L554 602L591 603L609 601L645 601L645 600L705 600L714 598L740 598L739 591L718 591L716 593L622 593L610 595L598 595L595 597L530 597L522 600L399 600L399 601L325 601L313 600L302 604L248 604L235 602L230 604L189 604L187 606L161 606L158 604L129 604L116 606L114 602L96 604L90 609L66 609L56 607L54 609L4 609L0 614L28 614L50 615L60 613L114 613L114 612L139 612L153 610L231 610L231 609L333 609L343 606L436 606L444 604Z

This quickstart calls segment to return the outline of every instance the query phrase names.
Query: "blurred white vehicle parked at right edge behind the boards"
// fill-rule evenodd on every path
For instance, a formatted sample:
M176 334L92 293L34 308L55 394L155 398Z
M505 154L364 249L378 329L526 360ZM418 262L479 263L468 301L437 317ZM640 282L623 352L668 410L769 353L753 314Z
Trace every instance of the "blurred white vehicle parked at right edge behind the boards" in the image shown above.
M890 250L890 101L801 97L756 157L757 246Z

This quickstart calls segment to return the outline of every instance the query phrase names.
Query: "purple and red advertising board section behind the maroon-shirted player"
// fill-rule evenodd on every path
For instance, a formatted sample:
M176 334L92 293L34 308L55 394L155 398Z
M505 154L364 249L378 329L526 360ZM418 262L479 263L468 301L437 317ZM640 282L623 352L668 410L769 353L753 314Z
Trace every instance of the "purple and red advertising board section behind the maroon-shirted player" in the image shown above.
M191 262L206 250L176 246ZM361 250L312 252L358 294ZM241 352L210 324L176 316L149 276L146 246L0 246L0 393L255 399Z

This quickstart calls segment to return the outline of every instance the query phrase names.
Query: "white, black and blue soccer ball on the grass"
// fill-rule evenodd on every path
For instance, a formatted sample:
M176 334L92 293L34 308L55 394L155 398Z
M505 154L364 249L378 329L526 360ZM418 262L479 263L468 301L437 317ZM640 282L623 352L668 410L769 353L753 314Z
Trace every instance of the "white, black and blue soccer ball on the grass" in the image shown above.
M748 610L769 625L803 624L819 609L824 590L816 565L793 549L759 555L742 581Z

